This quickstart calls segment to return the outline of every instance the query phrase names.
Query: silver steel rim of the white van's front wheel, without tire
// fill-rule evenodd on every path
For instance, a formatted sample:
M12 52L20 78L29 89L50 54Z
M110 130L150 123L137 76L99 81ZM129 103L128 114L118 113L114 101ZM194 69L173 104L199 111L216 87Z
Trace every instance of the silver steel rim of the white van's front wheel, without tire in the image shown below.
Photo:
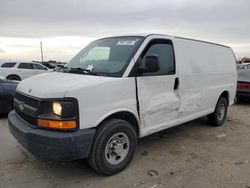
M105 158L111 165L121 163L129 151L128 136L122 132L114 134L106 144Z

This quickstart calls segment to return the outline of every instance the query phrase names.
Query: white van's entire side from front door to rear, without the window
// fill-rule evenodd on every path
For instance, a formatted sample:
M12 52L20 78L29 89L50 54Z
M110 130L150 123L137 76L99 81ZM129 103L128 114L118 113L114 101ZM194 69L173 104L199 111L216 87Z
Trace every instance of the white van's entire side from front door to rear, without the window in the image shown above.
M236 93L236 62L230 48L162 38L173 42L176 74L138 79L142 136L212 113L223 91L229 93L232 104ZM175 78L179 78L177 90L173 89Z

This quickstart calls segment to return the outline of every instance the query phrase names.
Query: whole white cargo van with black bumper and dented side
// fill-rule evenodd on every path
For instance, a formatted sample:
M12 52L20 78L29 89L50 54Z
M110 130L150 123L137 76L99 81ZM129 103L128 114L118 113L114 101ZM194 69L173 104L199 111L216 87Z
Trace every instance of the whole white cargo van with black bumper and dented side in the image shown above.
M129 164L137 138L205 115L222 125L236 82L227 46L156 34L103 38L58 72L20 82L9 128L38 157L89 158L112 175Z

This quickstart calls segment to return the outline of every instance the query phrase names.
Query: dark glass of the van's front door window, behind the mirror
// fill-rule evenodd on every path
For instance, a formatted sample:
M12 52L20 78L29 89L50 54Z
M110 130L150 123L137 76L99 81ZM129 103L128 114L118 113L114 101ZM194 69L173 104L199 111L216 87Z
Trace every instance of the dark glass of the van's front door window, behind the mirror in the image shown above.
M144 62L145 57L149 55L158 56L160 69L158 72L154 73L143 73L143 76L168 75L175 73L174 49L170 42L160 41L151 43L148 50L143 55L142 62Z

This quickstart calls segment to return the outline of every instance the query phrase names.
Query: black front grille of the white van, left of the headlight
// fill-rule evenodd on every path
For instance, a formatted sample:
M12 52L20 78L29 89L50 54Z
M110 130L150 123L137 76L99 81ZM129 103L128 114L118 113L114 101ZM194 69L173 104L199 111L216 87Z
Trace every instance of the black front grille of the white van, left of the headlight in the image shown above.
M20 108L20 104L24 105ZM21 93L16 92L14 98L14 109L18 116L24 121L28 122L31 126L37 126L36 111L39 106L39 100L28 97Z

